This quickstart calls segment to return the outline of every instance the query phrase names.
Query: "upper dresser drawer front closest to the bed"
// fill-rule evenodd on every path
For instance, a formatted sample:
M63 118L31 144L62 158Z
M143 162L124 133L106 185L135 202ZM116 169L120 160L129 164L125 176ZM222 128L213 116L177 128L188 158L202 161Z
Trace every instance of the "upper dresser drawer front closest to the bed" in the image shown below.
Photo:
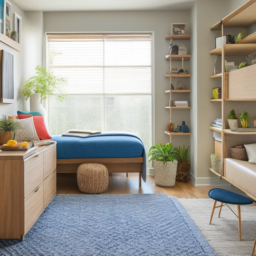
M44 179L56 169L56 144L44 151Z

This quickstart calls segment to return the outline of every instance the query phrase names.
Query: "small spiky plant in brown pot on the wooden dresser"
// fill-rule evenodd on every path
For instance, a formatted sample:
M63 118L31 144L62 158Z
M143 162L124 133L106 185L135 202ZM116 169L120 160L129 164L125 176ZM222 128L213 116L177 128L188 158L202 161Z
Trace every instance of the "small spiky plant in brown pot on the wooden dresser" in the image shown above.
M0 119L0 145L6 144L13 139L13 134L20 128L20 123L5 115Z

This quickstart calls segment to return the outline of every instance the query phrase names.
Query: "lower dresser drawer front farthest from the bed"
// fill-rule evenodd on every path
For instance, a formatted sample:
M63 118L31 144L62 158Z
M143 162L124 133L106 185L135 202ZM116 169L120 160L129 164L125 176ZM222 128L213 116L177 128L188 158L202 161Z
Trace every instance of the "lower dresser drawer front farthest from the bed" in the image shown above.
M24 234L36 222L44 210L44 188L43 183L24 198Z

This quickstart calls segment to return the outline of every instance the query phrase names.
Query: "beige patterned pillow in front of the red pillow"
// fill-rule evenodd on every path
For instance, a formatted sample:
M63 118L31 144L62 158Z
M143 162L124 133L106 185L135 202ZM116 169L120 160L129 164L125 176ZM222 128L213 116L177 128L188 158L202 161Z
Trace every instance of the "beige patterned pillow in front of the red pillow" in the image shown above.
M16 122L20 123L21 128L15 132L15 140L39 140L33 117L16 119Z

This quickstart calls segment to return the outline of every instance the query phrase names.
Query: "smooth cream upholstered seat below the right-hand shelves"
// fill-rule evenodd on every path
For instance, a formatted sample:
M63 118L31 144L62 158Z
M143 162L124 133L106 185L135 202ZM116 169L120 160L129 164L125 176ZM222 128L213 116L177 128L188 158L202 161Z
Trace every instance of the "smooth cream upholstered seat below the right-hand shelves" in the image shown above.
M256 200L256 164L225 158L224 168L225 178Z

